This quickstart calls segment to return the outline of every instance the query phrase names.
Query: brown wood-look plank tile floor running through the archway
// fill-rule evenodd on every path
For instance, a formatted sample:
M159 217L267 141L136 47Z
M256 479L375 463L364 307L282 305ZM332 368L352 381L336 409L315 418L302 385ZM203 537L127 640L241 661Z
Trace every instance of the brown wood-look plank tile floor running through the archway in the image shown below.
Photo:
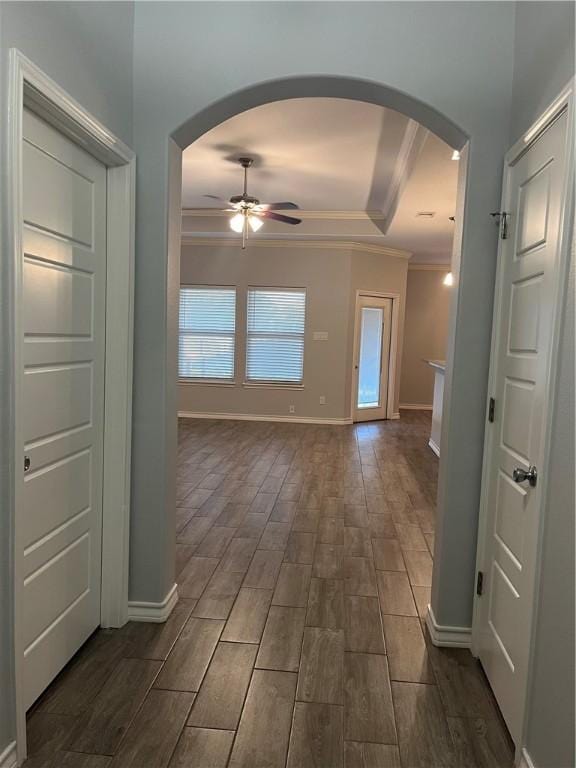
M29 717L27 768L509 768L430 595L429 414L182 421L180 601L99 631Z

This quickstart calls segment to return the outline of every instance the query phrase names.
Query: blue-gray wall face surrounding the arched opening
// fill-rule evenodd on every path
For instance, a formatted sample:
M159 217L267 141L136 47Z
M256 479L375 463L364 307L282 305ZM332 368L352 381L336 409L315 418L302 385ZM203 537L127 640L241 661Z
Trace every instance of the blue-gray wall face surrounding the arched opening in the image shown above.
M165 366L167 328L177 311L166 300L174 287L166 257L168 137L184 146L234 110L261 103L264 91L269 98L346 92L378 100L378 84L384 84L391 106L435 126L445 139L462 142L462 132L471 137L460 301L452 325L456 394L446 414L453 453L441 478L440 527L448 533L439 539L444 567L433 597L442 624L470 624L496 253L487 213L500 197L513 34L514 6L506 2L137 4L133 529L139 535L132 599L161 600L174 578L171 552L157 536L172 514L167 489L175 446L166 443L165 420L170 413L175 418L177 398L176 371ZM333 88L322 81L319 92L316 76L341 79ZM282 78L308 79L265 85ZM257 85L262 90L255 92Z

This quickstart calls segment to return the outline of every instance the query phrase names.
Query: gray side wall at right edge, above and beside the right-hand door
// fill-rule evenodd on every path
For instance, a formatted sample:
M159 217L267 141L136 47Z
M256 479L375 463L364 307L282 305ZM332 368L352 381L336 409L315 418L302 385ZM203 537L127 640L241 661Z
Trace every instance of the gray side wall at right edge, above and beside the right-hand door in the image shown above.
M574 75L573 3L523 2L516 13L510 141ZM574 253L560 342L548 498L525 743L536 768L574 754Z

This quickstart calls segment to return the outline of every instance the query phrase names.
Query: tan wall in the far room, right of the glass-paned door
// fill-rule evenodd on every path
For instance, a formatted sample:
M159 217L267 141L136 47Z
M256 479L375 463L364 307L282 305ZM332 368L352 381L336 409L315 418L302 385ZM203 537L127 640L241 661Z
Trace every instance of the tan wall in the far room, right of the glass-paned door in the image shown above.
M400 403L432 405L434 370L424 360L445 360L453 287L446 270L409 269Z

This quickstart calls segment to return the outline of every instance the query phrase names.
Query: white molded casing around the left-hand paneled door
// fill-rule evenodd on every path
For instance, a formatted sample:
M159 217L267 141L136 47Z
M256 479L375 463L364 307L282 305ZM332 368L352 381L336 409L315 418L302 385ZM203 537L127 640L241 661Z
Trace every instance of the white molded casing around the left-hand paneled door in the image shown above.
M135 162L132 150L113 136L60 86L17 49L10 50L7 135L7 253L10 273L10 523L14 585L14 685L18 760L26 757L22 699L22 556L19 505L23 455L22 370L22 135L24 107L40 115L107 167L106 392L104 406L102 599L103 626L122 626L128 613L130 452L132 433L132 340L135 226Z

